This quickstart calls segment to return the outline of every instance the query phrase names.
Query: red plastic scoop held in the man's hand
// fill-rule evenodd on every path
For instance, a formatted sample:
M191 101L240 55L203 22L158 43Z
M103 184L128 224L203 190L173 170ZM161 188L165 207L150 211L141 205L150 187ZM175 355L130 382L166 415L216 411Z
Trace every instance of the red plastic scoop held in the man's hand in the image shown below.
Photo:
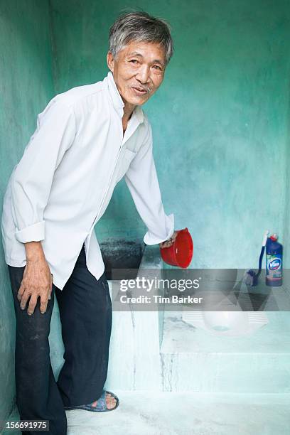
M160 248L163 262L186 268L193 258L193 239L190 236L188 228L177 230L176 240L167 248Z

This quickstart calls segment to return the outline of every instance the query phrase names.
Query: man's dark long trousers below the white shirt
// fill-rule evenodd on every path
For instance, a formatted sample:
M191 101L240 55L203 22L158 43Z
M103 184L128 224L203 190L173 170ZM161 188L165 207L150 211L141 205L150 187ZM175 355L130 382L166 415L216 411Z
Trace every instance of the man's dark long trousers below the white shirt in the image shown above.
M17 299L25 267L9 266L16 313L16 404L21 420L49 420L45 434L65 435L64 407L97 400L107 377L112 303L104 274L96 279L87 269L85 248L61 291L53 284L47 310L40 311L40 298L32 316L21 310ZM50 365L48 335L54 296L58 300L65 363L55 382ZM38 434L23 431L23 434Z

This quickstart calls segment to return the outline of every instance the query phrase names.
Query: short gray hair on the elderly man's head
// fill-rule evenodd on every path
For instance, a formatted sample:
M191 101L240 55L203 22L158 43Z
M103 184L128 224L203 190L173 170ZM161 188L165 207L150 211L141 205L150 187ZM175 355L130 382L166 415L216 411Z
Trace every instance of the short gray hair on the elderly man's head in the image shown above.
M115 59L119 51L131 41L159 43L164 48L166 65L173 55L169 24L146 12L122 14L109 29L109 51Z

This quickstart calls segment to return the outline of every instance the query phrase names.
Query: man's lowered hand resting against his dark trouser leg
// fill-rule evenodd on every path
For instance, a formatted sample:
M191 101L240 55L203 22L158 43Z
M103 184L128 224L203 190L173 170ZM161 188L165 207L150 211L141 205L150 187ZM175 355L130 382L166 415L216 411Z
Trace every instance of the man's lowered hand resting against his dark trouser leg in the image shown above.
M53 288L53 276L46 262L41 242L28 242L25 245L26 268L17 298L20 301L21 309L25 309L30 297L27 313L32 315L40 296L41 313L45 313Z

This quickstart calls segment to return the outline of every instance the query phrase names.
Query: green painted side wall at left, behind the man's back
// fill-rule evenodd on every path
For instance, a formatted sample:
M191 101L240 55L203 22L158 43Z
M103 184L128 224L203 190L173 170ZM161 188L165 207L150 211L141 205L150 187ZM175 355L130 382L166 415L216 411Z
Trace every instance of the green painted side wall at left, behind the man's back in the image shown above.
M53 94L48 1L0 0L0 213L6 185ZM0 235L1 237L1 235ZM0 249L0 421L14 401L15 317ZM1 430L1 429L0 429Z

